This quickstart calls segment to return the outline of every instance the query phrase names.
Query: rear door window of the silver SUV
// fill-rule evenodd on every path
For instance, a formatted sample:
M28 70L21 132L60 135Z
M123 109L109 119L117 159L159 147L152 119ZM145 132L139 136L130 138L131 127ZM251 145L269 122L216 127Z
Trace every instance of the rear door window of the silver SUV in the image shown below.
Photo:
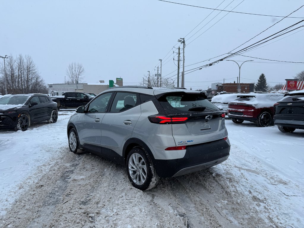
M114 98L110 112L123 112L139 104L135 93L118 92Z

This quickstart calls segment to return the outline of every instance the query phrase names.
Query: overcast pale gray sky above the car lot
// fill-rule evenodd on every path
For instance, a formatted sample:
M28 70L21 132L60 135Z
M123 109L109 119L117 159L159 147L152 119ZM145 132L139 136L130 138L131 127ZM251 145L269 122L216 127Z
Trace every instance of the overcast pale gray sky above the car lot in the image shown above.
M228 5L225 10L274 16L287 16L304 4L302 0L172 2L218 9L224 9ZM173 51L176 52L173 47L178 47L179 38L185 37L186 40L187 71L220 59L221 57L218 57L195 64L230 52L282 19L233 12L212 12L210 9L157 0L10 0L1 1L0 9L0 55L30 55L47 84L64 83L67 66L75 61L83 64L85 68L85 82L94 83L109 79L115 81L116 77L121 77L124 85L139 85L147 71L155 74L155 69L160 66L158 59L163 59L162 76L171 77L176 81L177 62L174 64L173 57L177 57L173 54ZM304 17L304 7L291 16ZM215 18L212 19L213 17ZM303 19L285 18L242 47L247 47L301 20ZM197 26L200 22L202 23ZM302 25L304 22L292 29ZM302 29L304 27L244 55L304 62ZM284 39L279 40L281 38ZM271 43L273 41L276 42ZM241 50L242 47L235 51ZM257 82L261 73L265 74L270 85L285 83L286 78L293 78L304 70L304 64L269 63L267 60L242 56L235 56L230 60L254 60L244 63L241 67L241 82L244 83ZM211 87L211 83L223 82L224 78L225 82L236 81L238 74L239 68L236 63L221 61L185 74L185 87L207 89L208 86Z

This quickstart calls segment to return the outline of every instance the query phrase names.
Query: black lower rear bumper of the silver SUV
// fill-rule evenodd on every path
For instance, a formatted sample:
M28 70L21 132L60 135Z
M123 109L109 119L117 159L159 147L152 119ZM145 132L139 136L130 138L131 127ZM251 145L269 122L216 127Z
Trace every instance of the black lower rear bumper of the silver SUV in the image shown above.
M183 158L154 160L154 166L160 177L176 177L217 165L229 157L229 140L216 140L187 146Z

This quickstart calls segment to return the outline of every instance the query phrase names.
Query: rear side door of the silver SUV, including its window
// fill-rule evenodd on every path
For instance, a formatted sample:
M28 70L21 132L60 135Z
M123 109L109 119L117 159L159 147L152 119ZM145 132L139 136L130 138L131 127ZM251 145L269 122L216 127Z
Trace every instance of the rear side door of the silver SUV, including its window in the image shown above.
M123 145L133 132L140 115L140 99L136 93L117 92L109 112L102 119L103 156L122 156ZM116 153L115 153L116 152Z

